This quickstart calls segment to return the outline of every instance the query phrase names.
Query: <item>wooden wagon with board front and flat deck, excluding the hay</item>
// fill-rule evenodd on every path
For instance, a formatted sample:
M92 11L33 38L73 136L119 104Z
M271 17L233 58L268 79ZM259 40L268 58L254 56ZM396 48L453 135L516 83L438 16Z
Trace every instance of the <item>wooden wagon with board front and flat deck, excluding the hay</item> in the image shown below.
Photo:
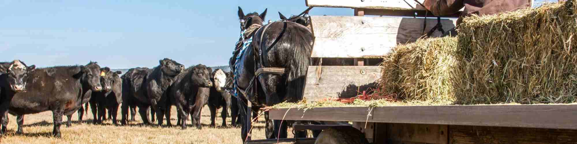
M532 1L529 1L532 3ZM308 0L307 6L345 7L355 16L310 17L315 37L304 98L347 98L374 88L381 77L382 55L411 43L437 24L413 1ZM373 15L381 17L363 17ZM385 17L383 17L385 16ZM453 28L459 14L441 19ZM440 32L433 36L441 35ZM274 120L352 122L372 143L577 143L577 105L443 105L389 107L279 108ZM293 124L296 131L331 125ZM314 138L252 140L248 143L314 143Z

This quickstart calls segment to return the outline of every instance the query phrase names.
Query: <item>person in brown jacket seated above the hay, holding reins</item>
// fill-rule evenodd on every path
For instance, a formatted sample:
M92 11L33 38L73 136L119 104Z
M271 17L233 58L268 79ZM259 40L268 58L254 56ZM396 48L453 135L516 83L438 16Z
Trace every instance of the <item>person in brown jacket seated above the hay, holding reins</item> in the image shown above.
M457 20L457 26L459 26L463 22L463 17L471 14L484 16L524 9L531 7L531 0L425 0L423 5L435 16L454 14L464 7L463 13ZM452 36L456 35L455 28L448 32L451 32Z

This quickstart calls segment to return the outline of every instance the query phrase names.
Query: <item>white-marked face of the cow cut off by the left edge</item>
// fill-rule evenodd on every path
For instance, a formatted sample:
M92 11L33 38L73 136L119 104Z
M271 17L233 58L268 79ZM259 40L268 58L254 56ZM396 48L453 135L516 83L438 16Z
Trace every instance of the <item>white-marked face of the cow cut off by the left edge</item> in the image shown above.
M24 62L20 60L14 60L10 63L4 63L0 65L2 71L6 71L8 74L8 85L10 89L14 92L24 92L26 90L26 79L28 78L28 73L36 69L35 65L26 66Z

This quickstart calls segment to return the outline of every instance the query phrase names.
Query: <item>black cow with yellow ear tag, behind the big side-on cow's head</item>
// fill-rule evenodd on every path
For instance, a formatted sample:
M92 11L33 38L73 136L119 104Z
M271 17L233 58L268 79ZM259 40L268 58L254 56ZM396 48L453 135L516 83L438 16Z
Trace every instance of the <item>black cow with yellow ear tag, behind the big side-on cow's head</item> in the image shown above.
M122 103L122 71L110 71L110 68L100 69L100 83L104 87L102 92L93 92L89 101L94 120L92 123L102 123L106 119L106 110L110 114L113 124L117 124L118 106ZM88 105L88 104L87 104ZM88 107L87 107L88 108Z

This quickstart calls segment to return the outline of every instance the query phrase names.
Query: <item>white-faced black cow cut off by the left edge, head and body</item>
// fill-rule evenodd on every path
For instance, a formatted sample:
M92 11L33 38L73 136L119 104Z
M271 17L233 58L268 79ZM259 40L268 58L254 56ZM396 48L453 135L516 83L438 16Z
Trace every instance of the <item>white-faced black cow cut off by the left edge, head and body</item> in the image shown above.
M14 60L12 62L0 62L0 105L8 106L9 97L13 97L14 94L18 92L24 92L26 90L26 79L28 78L28 73L31 73L36 69L35 65L27 66L24 62L20 60ZM8 125L8 111L0 108L2 116L2 130L0 134L6 132L6 125Z

